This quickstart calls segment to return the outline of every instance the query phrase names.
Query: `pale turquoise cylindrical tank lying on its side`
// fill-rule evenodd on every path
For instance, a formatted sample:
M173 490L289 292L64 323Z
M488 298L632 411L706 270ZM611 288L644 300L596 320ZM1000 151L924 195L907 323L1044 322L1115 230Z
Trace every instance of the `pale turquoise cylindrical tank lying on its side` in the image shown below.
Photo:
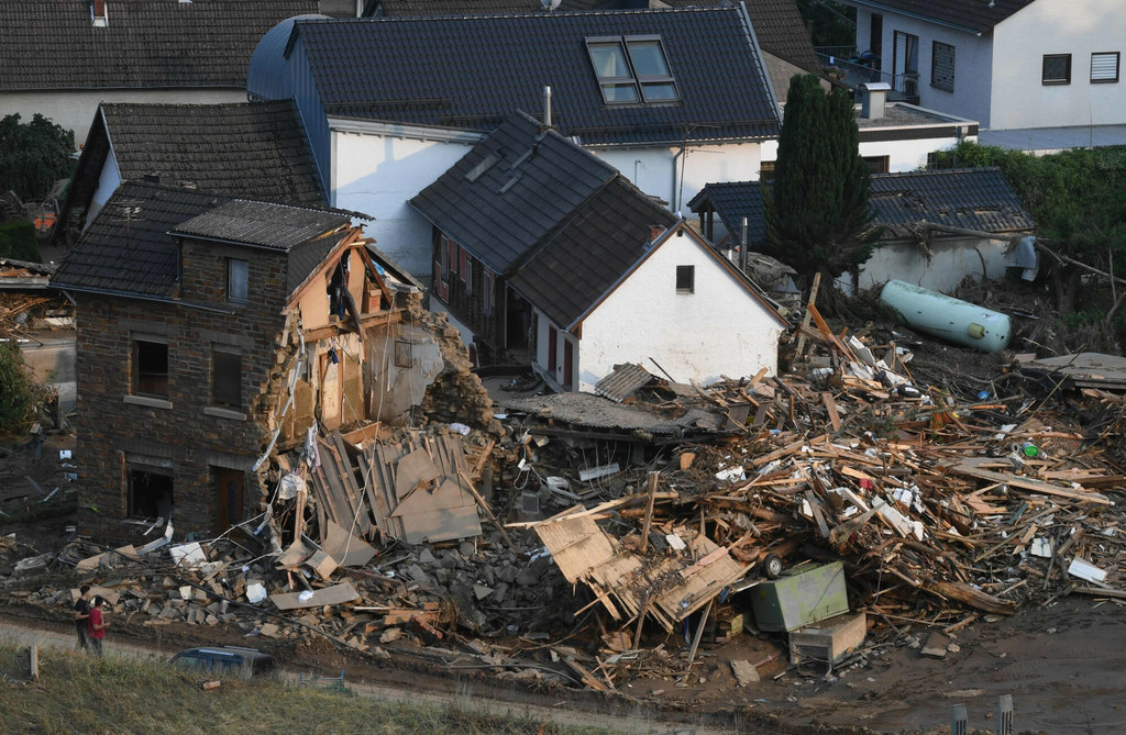
M982 352L1003 350L1009 343L1011 322L983 306L964 302L902 280L890 280L879 301L900 313L903 321L921 332Z

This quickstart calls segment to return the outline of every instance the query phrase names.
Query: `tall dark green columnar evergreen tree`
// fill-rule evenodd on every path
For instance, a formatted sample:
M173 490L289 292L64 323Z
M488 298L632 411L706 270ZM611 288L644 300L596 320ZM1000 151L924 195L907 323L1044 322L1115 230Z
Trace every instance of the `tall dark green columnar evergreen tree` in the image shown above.
M774 186L763 185L770 254L807 283L855 269L878 232L868 207L870 179L846 90L828 95L813 74L790 80Z

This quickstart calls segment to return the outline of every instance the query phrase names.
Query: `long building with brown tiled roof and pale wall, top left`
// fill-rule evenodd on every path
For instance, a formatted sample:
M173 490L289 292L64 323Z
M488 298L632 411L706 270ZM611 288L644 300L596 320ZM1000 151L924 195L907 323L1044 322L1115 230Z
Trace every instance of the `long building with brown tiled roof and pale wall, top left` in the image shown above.
M254 45L316 0L5 0L0 110L36 113L81 145L101 101L245 100Z

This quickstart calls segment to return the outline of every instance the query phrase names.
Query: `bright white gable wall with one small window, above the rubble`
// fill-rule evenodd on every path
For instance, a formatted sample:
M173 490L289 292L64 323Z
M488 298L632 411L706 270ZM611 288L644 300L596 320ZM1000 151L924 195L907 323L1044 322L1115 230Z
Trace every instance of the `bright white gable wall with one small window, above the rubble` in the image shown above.
M677 293L677 266L695 266L694 293ZM673 235L582 323L579 388L592 391L619 362L652 367L650 358L682 383L754 375L762 367L774 373L780 331L704 247ZM558 355L562 362L562 344Z

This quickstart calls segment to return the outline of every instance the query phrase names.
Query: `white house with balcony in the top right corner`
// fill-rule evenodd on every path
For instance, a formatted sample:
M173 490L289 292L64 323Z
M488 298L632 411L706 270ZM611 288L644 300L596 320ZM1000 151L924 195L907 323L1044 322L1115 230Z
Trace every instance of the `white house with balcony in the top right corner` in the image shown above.
M857 9L857 47L922 107L983 132L1126 124L1118 0L843 2Z

